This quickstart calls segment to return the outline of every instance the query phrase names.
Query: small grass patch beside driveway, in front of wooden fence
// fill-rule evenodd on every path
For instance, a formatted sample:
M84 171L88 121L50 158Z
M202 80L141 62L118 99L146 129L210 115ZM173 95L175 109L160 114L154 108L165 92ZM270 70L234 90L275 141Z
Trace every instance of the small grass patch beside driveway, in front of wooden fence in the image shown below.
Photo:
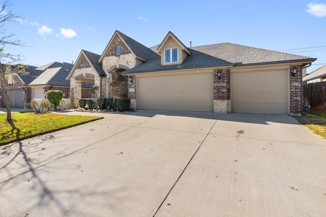
M326 110L310 111L307 116L293 116L315 134L326 139Z

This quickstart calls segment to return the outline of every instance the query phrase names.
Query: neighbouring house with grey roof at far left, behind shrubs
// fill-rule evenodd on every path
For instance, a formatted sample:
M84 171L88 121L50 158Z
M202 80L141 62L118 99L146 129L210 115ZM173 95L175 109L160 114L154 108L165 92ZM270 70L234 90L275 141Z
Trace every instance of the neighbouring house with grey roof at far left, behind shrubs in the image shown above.
M9 100L12 108L28 108L32 99L44 99L48 90L62 90L65 98L70 95L68 76L73 65L53 62L41 67L29 67L24 74L15 74L8 80ZM83 82L83 97L91 98L93 84ZM6 107L2 100L2 107Z

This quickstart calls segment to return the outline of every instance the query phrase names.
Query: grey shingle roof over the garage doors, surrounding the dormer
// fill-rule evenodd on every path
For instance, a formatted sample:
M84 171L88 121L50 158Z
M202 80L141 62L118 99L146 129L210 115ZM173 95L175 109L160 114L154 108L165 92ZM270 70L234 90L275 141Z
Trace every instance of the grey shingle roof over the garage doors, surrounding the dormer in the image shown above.
M157 47L158 46L154 46L151 48L151 50L155 50L155 48L157 49ZM192 52L192 55L187 56L184 59L183 63L180 65L162 66L160 61L160 55L158 55L155 56L154 59L148 60L146 63L143 63L130 70L127 70L121 74L165 71L178 68L200 68L212 66L227 66L235 64L237 64L237 66L238 64L240 66L251 64L262 65L287 61L294 62L295 60L315 60L308 56L283 53L232 43L221 43L191 47L188 48L188 50Z

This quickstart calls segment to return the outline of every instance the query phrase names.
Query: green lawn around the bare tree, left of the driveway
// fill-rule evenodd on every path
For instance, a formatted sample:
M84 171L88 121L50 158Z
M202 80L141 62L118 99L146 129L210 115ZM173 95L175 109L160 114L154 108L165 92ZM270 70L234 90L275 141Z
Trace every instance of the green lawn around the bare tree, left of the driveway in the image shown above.
M103 118L56 113L37 114L34 112L12 112L11 116L13 121L10 123L6 122L6 113L0 114L0 145Z

